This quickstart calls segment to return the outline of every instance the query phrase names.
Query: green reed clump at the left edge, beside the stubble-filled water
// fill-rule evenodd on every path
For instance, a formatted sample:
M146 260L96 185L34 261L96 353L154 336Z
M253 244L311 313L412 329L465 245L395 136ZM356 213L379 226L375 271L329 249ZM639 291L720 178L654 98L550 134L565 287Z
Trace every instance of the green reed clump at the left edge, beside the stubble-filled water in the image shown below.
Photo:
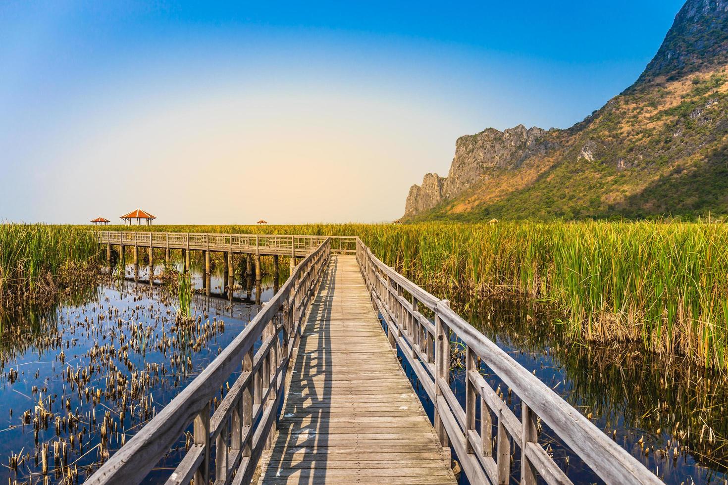
M98 244L87 228L0 224L0 308L50 297L96 268Z

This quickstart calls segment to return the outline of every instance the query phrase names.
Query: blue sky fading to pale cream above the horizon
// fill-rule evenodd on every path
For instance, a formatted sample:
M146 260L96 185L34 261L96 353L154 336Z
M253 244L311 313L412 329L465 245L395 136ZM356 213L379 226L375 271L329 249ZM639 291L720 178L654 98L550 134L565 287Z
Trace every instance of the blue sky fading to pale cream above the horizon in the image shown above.
M391 220L456 137L600 108L681 4L6 1L0 217Z

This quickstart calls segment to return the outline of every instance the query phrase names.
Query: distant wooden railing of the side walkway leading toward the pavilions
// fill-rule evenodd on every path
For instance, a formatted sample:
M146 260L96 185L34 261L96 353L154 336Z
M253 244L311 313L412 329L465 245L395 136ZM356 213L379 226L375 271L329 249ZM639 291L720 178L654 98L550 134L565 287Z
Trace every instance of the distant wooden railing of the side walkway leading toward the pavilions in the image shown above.
M96 231L100 244L125 244L170 249L290 254L302 257L331 238L334 254L355 254L356 236L293 236L286 234L163 233Z

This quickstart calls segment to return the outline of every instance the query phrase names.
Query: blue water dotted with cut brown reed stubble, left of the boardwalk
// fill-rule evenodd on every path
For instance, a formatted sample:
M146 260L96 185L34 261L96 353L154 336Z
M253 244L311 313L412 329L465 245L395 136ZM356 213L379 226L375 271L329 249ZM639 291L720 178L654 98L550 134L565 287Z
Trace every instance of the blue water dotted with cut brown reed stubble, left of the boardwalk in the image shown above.
M83 482L245 328L256 301L277 286L268 277L259 289L236 287L232 301L206 296L195 269L198 293L184 323L170 286L144 281L146 266L138 283L117 275L74 301L1 317L0 484ZM133 279L133 265L126 273ZM223 293L223 275L211 279L211 292ZM149 481L164 481L186 444L182 437Z

